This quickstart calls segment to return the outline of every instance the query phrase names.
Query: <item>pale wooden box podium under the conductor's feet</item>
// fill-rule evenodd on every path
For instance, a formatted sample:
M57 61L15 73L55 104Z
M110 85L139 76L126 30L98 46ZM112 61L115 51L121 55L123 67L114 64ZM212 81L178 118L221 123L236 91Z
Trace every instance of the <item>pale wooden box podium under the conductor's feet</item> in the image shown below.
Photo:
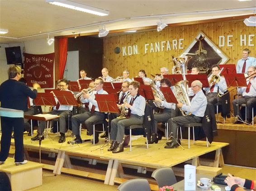
M0 171L8 175L13 191L42 185L42 168L43 164L32 161L16 166L13 158L6 159L5 163L0 165Z

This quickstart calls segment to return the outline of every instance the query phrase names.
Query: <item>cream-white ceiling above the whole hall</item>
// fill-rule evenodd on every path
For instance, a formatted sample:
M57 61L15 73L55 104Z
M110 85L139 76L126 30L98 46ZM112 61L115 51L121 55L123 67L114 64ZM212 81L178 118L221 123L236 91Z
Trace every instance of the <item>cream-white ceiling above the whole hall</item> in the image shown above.
M256 0L72 0L110 12L97 16L51 5L45 0L0 0L0 43L15 43L75 32L97 32L101 24L116 30L164 23L253 14ZM4 37L3 37L4 36Z

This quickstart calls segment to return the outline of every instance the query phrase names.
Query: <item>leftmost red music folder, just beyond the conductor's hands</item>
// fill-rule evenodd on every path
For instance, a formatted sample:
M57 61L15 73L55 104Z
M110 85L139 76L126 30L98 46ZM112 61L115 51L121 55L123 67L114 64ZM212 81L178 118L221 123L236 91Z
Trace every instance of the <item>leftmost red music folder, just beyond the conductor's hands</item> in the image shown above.
M52 93L38 93L37 97L34 99L34 102L35 105L57 105Z

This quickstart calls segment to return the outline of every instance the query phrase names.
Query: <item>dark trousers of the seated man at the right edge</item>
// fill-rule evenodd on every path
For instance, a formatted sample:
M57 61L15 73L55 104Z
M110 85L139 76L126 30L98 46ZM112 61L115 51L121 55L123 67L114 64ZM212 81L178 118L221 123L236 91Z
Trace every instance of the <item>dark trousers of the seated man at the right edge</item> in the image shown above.
M238 104L238 110L237 110L237 104ZM232 101L233 109L234 109L234 115L239 116L242 118L242 114L240 111L241 104L246 104L247 109L247 119L252 118L252 108L256 106L256 97L239 97L237 100Z

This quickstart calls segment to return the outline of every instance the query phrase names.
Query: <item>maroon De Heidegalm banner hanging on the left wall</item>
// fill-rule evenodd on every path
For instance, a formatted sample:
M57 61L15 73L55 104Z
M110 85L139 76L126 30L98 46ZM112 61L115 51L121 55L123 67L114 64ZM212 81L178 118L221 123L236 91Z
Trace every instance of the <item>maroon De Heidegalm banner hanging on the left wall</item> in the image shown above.
M24 53L24 78L28 86L38 83L41 88L53 87L54 53L33 55Z

